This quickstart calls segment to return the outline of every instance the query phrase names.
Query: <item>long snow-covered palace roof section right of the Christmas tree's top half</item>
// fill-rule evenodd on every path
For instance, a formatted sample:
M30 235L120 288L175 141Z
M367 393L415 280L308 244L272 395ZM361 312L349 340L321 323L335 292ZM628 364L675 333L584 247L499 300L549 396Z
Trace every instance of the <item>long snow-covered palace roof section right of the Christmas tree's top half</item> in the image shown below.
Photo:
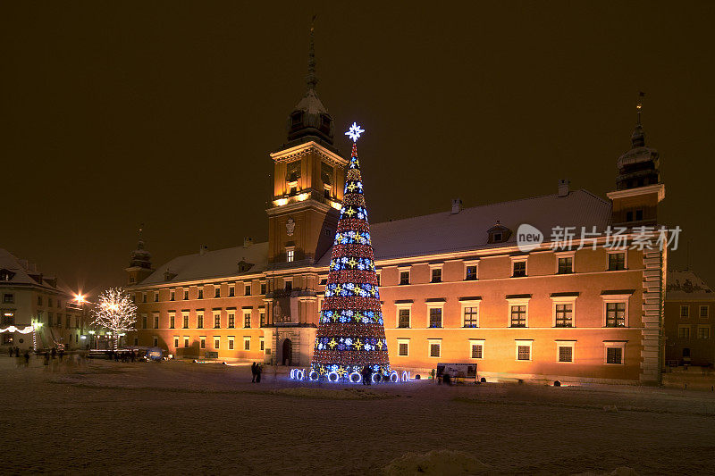
M368 204L369 210L369 204ZM487 230L497 221L512 231L505 243L488 244ZM585 190L567 196L535 196L511 202L465 208L459 213L433 213L404 220L384 221L370 225L375 260L467 251L485 247L514 246L517 228L528 223L549 241L556 226L584 226L605 230L610 221L610 203ZM329 250L319 265L330 264Z

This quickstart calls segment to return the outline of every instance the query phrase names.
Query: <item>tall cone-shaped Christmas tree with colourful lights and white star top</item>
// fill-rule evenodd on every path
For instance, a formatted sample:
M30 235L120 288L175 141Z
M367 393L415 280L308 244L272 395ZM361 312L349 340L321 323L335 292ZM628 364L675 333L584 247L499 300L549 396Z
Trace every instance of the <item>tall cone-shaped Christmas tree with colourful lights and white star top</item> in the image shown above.
M311 380L324 375L329 380L356 381L365 366L374 374L390 375L370 224L355 144L362 132L364 130L354 122L346 132L353 139L352 154L315 337Z

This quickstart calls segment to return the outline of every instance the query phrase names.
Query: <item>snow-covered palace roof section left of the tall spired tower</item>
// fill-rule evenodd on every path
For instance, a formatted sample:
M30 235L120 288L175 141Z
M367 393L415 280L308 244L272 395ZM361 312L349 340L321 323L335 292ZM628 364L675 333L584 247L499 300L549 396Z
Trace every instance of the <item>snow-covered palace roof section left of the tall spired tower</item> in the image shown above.
M241 261L251 263L253 266L248 271L240 272ZM267 241L249 246L233 246L174 258L169 263L159 266L146 280L142 280L141 284L165 284L255 274L265 271L266 263L268 263ZM174 275L172 280L164 279L166 271Z

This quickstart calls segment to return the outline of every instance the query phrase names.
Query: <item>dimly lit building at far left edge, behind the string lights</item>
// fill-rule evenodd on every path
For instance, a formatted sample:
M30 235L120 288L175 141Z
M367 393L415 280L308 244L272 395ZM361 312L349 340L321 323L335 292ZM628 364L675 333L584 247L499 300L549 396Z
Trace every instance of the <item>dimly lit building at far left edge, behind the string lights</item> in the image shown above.
M55 276L40 272L37 264L4 249L0 249L0 296L0 330L5 330L0 333L0 348L32 349L33 332L21 330L33 325L39 349L86 345L81 341L83 309L73 301L70 288ZM11 326L17 330L10 331Z

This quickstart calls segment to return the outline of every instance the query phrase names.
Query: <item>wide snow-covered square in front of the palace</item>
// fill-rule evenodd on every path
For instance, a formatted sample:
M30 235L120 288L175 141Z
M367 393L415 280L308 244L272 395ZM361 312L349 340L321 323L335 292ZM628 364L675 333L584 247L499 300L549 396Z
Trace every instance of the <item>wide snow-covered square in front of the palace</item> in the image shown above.
M248 366L52 372L6 356L0 379L4 474L715 471L712 392L425 380L366 390L270 368L252 384Z

